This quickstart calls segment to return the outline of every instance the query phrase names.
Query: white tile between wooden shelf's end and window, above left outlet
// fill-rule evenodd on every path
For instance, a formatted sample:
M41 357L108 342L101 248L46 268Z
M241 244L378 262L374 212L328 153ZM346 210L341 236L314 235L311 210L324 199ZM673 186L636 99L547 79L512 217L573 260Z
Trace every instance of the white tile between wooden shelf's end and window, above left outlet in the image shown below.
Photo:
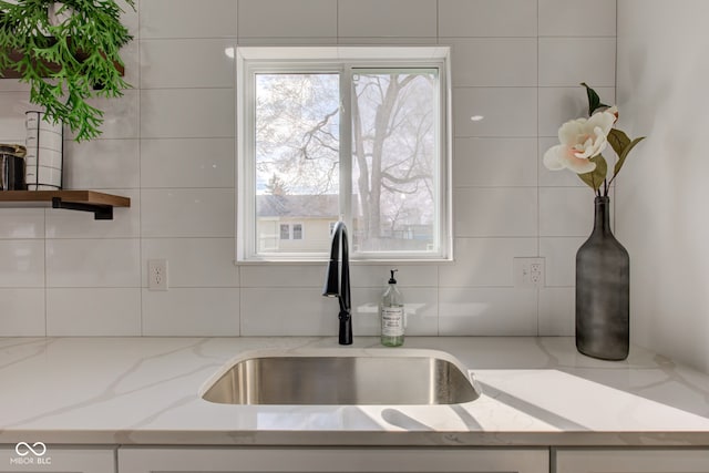
M143 237L234 237L234 189L143 189Z

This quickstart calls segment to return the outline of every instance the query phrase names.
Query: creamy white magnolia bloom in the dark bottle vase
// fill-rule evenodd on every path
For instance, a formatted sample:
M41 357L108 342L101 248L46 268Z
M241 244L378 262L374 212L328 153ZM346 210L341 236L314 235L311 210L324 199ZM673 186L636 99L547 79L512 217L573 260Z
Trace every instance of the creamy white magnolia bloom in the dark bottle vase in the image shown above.
M615 121L615 114L604 111L595 113L590 119L564 123L558 128L561 144L544 153L544 165L552 171L567 167L577 174L590 173L596 164L589 160L606 148L606 136Z

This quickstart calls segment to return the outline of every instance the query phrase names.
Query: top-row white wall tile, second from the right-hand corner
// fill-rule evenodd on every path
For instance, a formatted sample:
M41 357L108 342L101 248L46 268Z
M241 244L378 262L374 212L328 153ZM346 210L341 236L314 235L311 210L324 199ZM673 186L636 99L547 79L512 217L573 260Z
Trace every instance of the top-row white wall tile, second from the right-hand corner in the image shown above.
M536 37L536 0L439 0L440 37Z

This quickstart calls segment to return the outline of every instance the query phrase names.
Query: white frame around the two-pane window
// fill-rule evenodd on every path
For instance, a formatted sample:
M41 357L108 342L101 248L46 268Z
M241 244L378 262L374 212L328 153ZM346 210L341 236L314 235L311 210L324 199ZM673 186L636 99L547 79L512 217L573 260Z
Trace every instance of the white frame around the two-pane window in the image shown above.
M236 62L236 263L266 261L321 261L329 257L328 248L322 253L269 253L258 254L256 247L256 189L254 130L254 74L256 72L340 72L347 81L341 90L350 91L350 74L356 68L438 68L440 90L439 169L435 184L439 186L439 222L436 239L439 251L350 251L354 261L450 261L453 250L452 230L452 135L451 135L451 83L450 48L448 47L239 47L235 51ZM349 116L350 94L341 96L343 116ZM340 124L340 169L351 169L351 123ZM349 181L349 182L348 182ZM351 186L350 172L340 172L340 189ZM340 193L340 215L351 228L351 198ZM350 237L351 239L351 237Z

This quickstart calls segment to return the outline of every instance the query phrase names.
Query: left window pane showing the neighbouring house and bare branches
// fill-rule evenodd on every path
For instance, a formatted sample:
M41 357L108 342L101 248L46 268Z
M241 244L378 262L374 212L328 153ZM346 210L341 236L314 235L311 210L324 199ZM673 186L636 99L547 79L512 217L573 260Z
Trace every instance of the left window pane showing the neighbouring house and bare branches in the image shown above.
M256 74L257 251L323 253L337 219L340 92L336 73ZM281 238L274 225L308 224L308 235Z

